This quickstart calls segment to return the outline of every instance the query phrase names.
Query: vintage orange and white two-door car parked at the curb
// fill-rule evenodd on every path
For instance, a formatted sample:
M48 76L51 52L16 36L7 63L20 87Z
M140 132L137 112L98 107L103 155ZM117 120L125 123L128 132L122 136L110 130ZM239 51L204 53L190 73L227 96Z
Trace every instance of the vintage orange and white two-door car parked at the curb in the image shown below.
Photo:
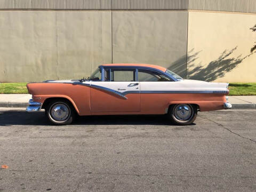
M195 121L197 111L231 108L228 83L183 79L172 71L146 64L101 65L87 79L27 84L28 112L45 109L57 125L75 115L167 114L177 125Z

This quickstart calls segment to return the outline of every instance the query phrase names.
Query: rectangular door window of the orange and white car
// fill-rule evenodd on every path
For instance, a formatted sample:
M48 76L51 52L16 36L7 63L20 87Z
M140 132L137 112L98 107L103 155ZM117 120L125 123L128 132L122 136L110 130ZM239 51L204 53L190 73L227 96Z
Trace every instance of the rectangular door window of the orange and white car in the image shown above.
M135 81L135 69L111 68L111 81L130 82Z

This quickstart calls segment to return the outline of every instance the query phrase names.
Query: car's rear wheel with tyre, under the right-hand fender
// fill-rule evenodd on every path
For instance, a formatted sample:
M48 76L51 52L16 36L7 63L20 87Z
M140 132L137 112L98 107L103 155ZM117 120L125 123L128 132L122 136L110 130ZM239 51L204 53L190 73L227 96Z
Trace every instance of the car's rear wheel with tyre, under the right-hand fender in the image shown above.
M197 108L190 104L172 105L168 116L175 125L189 125L193 123L197 116Z

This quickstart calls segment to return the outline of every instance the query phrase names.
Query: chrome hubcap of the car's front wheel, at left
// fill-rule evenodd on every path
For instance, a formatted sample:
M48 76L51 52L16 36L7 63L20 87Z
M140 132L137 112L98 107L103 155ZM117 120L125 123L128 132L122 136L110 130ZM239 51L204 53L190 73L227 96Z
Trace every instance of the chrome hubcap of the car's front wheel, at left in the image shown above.
M58 103L52 107L51 116L55 121L65 121L69 116L69 108L62 103Z

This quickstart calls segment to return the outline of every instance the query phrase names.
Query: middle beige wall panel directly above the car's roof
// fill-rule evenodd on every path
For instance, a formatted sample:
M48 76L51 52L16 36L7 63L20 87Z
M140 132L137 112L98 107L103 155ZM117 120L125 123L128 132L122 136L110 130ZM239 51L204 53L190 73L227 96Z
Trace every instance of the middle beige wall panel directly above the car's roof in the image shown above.
M113 11L113 62L149 63L186 75L187 11Z

